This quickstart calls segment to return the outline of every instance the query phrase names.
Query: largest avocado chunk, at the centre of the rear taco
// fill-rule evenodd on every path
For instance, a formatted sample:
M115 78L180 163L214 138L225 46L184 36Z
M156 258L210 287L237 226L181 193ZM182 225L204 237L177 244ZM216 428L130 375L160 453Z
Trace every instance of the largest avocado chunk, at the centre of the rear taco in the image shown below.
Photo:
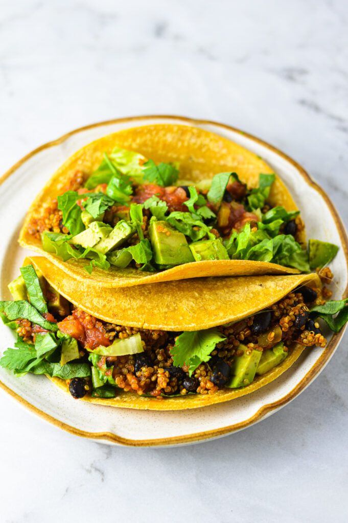
M195 261L185 235L167 222L153 221L149 236L156 264L181 265Z

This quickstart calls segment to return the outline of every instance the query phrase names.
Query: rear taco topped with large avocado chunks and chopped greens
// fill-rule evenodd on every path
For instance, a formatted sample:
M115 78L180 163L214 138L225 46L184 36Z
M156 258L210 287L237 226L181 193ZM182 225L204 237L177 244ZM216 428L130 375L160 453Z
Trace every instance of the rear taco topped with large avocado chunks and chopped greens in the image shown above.
M19 240L98 287L313 267L299 211L271 167L216 134L173 124L77 151L33 202ZM318 265L337 252L319 247Z

